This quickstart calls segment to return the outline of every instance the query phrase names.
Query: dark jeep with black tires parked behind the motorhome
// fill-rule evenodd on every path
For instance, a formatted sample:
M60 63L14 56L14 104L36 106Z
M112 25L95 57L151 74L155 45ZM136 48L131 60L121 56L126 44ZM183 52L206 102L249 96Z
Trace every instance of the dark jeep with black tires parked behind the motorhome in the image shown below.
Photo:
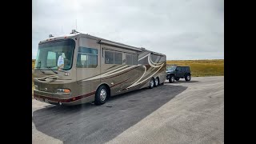
M166 79L169 79L170 83L178 81L179 78L185 78L186 82L190 81L190 66L170 66L166 69Z

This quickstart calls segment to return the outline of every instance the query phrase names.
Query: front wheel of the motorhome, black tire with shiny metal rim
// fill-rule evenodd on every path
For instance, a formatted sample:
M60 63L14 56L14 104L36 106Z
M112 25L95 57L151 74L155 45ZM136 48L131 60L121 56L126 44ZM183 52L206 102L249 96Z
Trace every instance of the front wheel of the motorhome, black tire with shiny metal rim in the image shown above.
M109 97L109 91L106 89L106 86L102 85L98 87L98 90L95 94L95 105L102 105L106 102L106 98Z

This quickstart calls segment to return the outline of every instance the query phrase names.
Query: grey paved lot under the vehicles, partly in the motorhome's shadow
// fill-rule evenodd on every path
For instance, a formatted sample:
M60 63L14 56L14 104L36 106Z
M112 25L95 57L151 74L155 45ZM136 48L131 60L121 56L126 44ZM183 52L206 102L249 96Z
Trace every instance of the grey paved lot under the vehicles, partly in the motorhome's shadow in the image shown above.
M224 77L192 78L102 106L32 100L33 143L224 143Z

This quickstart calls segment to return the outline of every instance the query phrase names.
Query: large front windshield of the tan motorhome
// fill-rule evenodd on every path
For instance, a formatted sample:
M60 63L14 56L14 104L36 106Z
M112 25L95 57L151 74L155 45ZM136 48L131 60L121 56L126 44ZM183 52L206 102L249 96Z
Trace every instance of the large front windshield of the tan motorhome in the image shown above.
M70 70L75 42L73 39L42 42L38 46L35 68L40 70Z

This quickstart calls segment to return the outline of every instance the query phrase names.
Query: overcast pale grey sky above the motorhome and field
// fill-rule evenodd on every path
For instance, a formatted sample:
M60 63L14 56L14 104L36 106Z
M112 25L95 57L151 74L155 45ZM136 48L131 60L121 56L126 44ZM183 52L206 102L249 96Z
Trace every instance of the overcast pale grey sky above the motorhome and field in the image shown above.
M38 42L79 32L166 54L168 60L224 58L223 0L34 0Z

